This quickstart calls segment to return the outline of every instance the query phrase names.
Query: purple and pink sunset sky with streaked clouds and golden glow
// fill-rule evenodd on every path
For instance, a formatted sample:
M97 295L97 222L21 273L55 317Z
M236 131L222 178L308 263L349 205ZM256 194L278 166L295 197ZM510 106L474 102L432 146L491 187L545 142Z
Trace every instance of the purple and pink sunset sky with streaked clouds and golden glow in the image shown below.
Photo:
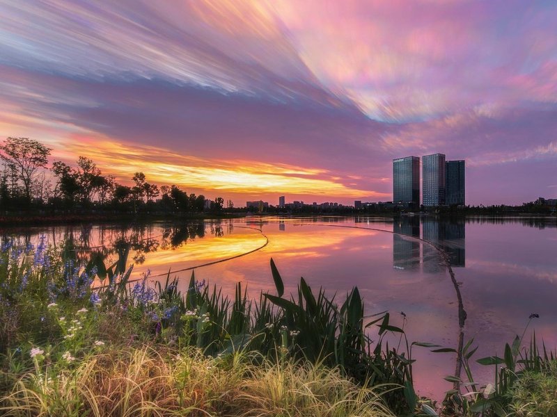
M2 0L0 139L188 193L390 201L466 160L467 204L557 197L557 1Z

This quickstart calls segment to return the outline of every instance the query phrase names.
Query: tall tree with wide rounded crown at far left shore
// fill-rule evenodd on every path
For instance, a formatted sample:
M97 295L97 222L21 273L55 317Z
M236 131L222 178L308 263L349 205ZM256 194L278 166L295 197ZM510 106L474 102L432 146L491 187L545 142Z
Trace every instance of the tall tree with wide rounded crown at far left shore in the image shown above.
M31 202L31 184L41 167L46 167L52 149L29 138L7 138L0 145L0 158L13 167L23 183L24 195Z

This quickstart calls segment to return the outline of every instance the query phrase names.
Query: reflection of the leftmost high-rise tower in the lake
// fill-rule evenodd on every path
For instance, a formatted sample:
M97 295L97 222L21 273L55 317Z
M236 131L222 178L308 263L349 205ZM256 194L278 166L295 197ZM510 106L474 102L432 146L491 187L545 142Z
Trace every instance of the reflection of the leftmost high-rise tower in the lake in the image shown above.
M420 265L420 242L402 235L420 238L420 218L401 217L393 224L393 268L414 270Z

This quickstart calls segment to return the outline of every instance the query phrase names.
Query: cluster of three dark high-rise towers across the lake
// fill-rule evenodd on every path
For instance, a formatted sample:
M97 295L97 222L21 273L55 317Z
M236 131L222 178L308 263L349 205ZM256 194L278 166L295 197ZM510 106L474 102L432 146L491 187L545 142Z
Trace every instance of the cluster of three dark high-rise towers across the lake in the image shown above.
M444 154L422 156L423 205L464 206L464 160L445 161ZM420 206L420 158L393 159L393 202Z

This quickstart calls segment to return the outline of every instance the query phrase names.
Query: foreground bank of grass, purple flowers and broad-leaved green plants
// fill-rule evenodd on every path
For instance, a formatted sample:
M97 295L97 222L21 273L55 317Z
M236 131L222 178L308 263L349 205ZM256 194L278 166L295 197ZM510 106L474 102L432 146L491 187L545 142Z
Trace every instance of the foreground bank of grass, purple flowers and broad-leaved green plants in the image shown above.
M551 357L535 345L526 357L521 340L505 347L504 358L486 361L499 366L499 382L476 386L467 363L472 343L464 352L405 343L389 313L366 316L357 288L338 303L301 279L297 293L285 296L273 261L271 270L273 294L254 301L237 284L229 300L194 275L182 294L171 277L155 287L148 276L130 284L131 268L120 263L79 264L44 241L5 243L0 414L491 416L522 412L534 401L528 394L550 389L520 385L554 377ZM402 350L386 343L393 333ZM462 356L463 391L449 391L437 409L414 390L418 347Z

